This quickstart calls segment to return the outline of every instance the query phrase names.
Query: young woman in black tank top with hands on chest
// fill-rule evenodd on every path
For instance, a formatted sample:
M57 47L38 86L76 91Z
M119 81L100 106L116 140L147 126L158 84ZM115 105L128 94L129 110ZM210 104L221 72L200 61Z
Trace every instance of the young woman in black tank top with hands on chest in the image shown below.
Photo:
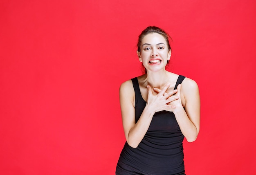
M165 70L171 47L162 29L147 27L137 46L145 74L120 87L126 143L116 175L185 175L182 142L200 127L198 85Z

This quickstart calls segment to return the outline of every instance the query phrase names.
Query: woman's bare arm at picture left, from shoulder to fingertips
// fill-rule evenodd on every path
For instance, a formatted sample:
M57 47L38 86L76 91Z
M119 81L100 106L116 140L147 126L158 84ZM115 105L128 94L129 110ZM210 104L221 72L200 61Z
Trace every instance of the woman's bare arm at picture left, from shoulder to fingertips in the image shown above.
M172 111L173 108L175 108L172 105L167 105L167 103L170 103L179 97L172 96L177 91L165 93L168 87L169 85L166 85L162 92L153 95L150 86L148 86L148 100L146 107L137 123L135 123L135 92L133 90L132 81L126 81L121 85L119 94L124 133L127 143L132 148L137 148L145 136L155 112L162 110Z

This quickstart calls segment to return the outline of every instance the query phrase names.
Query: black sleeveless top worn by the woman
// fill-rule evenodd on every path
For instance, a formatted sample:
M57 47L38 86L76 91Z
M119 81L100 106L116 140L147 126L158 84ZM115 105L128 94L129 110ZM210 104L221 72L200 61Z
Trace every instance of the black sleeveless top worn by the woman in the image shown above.
M174 89L184 78L178 77ZM146 101L141 96L137 77L132 79L132 84L137 122ZM173 112L156 112L138 147L132 148L125 143L117 163L116 175L185 175L183 139Z

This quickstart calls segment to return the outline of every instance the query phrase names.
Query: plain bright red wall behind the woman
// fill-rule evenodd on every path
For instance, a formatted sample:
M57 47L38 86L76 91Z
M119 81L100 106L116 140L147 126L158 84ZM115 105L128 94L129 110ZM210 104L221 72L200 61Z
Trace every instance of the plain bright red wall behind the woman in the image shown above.
M254 0L2 0L0 174L114 174L119 85L141 74L137 36L149 25L173 38L168 70L200 88L186 173L254 174Z

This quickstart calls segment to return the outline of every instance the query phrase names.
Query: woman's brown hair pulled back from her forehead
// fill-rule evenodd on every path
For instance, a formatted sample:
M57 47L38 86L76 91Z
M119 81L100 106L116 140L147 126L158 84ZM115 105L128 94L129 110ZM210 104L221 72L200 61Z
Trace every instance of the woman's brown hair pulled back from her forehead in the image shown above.
M140 52L140 46L141 46L141 41L142 39L144 38L144 36L146 36L147 34L150 34L150 33L157 33L157 34L160 34L164 37L164 39L166 40L166 43L167 43L167 46L168 46L168 51L171 50L171 46L170 46L170 43L169 43L169 38L172 40L171 36L169 36L163 29L160 29L159 27L156 27L156 26L149 26L147 27L146 29L144 29L141 34L139 35L139 40L138 40L138 43L137 43L137 51Z

